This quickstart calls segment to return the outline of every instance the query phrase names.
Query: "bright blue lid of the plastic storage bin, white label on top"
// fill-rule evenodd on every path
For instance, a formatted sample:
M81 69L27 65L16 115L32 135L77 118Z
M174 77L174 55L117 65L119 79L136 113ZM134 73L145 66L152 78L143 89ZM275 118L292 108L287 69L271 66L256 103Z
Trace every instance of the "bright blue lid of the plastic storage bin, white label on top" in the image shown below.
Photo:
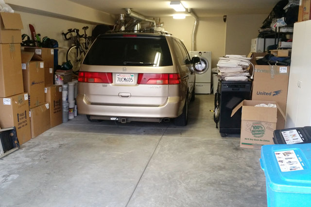
M311 143L261 147L260 165L269 188L275 191L311 193Z

